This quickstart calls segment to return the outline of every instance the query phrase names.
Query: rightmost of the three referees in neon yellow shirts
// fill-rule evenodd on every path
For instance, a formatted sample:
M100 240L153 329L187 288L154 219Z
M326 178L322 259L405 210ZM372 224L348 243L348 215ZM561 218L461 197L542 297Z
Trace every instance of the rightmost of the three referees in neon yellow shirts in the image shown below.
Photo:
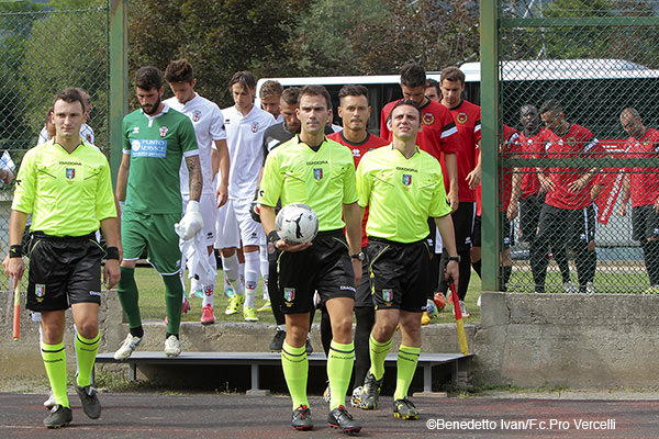
M402 340L396 364L393 414L417 419L407 390L421 352L421 315L433 291L427 218L435 218L448 251L446 279L458 282L459 270L450 205L436 158L415 145L422 128L414 101L396 103L388 121L392 143L368 151L357 168L359 205L368 206L367 254L376 324L369 345L371 367L366 375L360 407L375 409L384 375L384 359L400 324Z

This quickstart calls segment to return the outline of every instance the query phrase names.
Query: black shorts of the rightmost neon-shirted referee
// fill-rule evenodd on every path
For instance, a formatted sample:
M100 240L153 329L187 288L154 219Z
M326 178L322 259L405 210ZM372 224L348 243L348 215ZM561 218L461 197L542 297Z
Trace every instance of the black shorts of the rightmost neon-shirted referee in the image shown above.
M369 237L367 252L376 309L421 313L435 286L426 241L400 244Z

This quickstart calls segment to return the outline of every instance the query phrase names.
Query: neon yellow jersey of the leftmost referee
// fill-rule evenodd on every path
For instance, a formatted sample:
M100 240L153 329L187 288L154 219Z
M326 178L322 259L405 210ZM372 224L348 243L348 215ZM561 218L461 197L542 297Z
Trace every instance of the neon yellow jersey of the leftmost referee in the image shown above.
M32 214L33 232L82 236L115 217L108 159L82 142L68 154L48 140L25 153L16 177L14 211Z

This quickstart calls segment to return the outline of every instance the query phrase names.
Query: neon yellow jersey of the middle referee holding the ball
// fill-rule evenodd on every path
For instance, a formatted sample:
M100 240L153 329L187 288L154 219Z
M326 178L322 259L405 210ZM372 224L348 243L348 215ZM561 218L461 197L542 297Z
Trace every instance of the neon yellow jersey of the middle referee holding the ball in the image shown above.
M348 148L325 139L317 151L299 136L268 155L259 202L276 206L304 203L319 215L319 230L343 228L342 204L357 201L355 160Z

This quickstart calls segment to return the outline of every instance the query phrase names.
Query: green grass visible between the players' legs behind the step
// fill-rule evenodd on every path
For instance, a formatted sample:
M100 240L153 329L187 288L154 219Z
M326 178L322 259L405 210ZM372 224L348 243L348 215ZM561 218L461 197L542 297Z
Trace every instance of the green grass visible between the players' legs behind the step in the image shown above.
M135 270L135 281L139 289L139 311L142 318L165 318L165 286L158 273L150 267L138 267ZM226 299L222 292L222 285L224 284L222 271L217 271L216 285L219 291L215 292L215 319L226 322L242 322L243 316L241 314L227 316L224 314L224 309L228 305L228 299ZM188 290L189 281L186 282L186 291ZM476 305L478 296L481 291L480 278L472 272L471 282L469 285L469 292L465 302L467 309L471 314L469 320L480 320L480 308ZM182 317L182 322L199 322L201 317L201 299L190 299L190 305L192 309ZM265 301L263 300L263 283L259 282L258 290L256 293L256 307L260 307ZM451 312L453 307L447 305L446 308L439 313L439 316L433 318L431 324L434 323L450 323L455 322L455 317ZM275 323L275 317L271 312L258 313L260 322ZM316 313L315 320L320 322L320 313Z

